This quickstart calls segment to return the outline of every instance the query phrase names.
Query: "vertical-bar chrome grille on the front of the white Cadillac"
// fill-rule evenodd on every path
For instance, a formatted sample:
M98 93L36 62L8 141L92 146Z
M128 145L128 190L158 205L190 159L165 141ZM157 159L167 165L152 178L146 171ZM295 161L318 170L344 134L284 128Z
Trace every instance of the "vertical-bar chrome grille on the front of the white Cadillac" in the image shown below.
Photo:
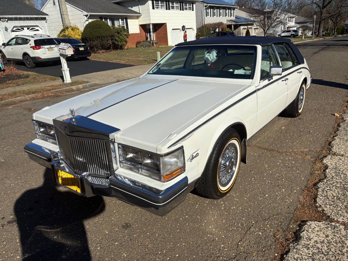
M78 173L108 177L112 174L108 140L65 135L56 128L56 137L62 159Z

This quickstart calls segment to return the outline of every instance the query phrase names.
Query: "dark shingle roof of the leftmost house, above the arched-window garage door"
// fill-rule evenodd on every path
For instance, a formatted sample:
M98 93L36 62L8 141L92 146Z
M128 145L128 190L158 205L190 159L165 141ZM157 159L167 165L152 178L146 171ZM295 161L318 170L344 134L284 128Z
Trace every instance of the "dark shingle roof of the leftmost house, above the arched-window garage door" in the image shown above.
M48 16L48 14L21 2L20 0L0 0L1 16Z

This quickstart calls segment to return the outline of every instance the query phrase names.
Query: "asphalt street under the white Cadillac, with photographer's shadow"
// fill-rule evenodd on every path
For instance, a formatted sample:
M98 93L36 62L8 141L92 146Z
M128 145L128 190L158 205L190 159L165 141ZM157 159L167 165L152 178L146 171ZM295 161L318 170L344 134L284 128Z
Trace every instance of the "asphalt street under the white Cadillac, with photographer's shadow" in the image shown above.
M272 260L313 159L348 94L348 37L298 46L314 78L296 119L277 117L248 142L230 193L190 193L164 217L120 200L54 187L29 160L32 113L76 94L0 107L0 260Z

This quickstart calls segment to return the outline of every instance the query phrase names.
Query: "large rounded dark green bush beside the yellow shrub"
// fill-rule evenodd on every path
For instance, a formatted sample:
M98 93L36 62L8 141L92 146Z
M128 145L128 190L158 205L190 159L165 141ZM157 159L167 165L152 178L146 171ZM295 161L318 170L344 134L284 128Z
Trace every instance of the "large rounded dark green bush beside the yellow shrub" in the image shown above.
M89 45L92 52L110 50L115 38L115 32L102 20L89 22L82 32L82 42Z

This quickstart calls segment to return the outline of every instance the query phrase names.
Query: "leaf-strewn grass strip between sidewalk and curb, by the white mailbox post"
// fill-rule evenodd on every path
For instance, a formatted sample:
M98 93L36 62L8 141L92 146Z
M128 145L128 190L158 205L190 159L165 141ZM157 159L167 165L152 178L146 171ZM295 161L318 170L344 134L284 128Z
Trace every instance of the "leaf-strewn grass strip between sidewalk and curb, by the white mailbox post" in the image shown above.
M42 97L46 97L46 96L50 96L50 95L57 95L57 93L52 92L52 91L56 90L56 89L69 87L69 86L86 84L87 82L88 81L78 80L78 81L72 81L69 84L64 84L62 82L59 84L51 84L51 85L47 85L47 86L29 88L29 89L25 89L25 90L20 90L20 91L8 93L8 94L0 95L0 101L11 100L11 99L19 97L19 96L30 95L30 94L37 94L37 96L35 96L35 98L42 98ZM60 93L60 94L62 94L62 93Z

